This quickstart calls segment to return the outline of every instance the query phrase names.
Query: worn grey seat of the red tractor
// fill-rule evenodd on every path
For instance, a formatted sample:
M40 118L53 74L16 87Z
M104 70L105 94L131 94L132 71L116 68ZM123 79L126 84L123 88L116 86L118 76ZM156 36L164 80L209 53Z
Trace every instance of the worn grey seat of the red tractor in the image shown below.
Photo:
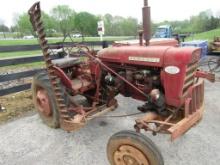
M52 60L52 63L59 68L68 68L68 67L80 64L81 62L79 58L66 57L66 58Z

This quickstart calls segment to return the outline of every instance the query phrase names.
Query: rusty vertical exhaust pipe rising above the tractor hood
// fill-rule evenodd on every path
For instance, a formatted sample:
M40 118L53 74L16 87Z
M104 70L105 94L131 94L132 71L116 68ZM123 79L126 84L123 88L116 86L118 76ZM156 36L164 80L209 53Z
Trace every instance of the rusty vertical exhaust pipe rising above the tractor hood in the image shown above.
M145 45L148 46L149 41L151 39L151 16L150 16L150 7L148 6L148 0L144 0L142 15L143 15L144 40L145 40Z

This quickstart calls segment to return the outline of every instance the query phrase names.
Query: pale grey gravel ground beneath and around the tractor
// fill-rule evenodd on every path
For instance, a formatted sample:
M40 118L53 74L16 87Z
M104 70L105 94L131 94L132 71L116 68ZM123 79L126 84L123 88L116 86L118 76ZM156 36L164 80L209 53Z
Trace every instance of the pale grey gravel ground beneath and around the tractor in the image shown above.
M168 135L150 137L160 148L166 165L218 165L220 162L220 83L206 82L203 120L174 142ZM119 108L108 115L134 112L140 103L119 96ZM0 164L107 165L109 137L133 129L135 117L96 118L79 131L67 133L45 126L38 115L0 126Z

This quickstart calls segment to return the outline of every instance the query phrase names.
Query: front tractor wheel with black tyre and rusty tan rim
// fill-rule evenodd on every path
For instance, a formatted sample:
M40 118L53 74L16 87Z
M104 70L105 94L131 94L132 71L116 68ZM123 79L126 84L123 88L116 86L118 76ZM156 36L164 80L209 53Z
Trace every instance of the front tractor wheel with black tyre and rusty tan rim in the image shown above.
M121 131L108 141L107 156L111 165L163 165L155 144L134 131Z

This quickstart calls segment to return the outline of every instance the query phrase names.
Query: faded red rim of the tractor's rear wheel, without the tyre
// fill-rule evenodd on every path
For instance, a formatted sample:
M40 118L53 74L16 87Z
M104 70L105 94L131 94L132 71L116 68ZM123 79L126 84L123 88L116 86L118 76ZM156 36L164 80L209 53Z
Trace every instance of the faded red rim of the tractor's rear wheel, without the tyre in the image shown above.
M37 90L37 107L37 109L46 117L52 115L48 94L44 89Z

